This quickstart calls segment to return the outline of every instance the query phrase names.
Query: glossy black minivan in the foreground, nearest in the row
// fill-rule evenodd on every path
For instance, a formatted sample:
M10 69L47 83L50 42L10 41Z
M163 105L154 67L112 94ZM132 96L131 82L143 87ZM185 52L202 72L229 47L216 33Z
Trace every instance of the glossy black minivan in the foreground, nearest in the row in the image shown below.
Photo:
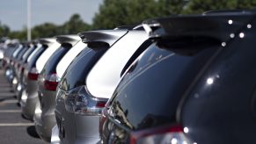
M256 143L256 13L144 22L151 45L103 113L104 143Z

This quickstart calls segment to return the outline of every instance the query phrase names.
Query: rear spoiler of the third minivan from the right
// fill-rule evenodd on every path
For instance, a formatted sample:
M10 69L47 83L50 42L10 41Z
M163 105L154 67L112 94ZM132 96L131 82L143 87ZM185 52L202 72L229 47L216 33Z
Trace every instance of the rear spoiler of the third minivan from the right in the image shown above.
M74 47L77 42L81 40L78 35L59 35L56 36L56 41L62 45L69 44L70 47Z

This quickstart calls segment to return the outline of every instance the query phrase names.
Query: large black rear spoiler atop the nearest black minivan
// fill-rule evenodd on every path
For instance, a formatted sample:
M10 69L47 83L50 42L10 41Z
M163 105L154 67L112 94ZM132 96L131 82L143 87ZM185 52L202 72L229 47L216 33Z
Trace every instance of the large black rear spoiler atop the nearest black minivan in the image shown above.
M228 42L246 27L251 28L253 11L220 11L203 15L184 15L145 20L143 27L150 38L208 38ZM251 26L250 26L251 25Z

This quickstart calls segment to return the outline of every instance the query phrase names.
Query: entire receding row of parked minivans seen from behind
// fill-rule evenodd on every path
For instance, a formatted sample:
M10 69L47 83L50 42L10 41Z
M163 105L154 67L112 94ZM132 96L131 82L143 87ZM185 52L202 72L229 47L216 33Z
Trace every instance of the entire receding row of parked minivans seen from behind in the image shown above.
M255 143L255 23L209 11L12 44L5 76L52 143Z

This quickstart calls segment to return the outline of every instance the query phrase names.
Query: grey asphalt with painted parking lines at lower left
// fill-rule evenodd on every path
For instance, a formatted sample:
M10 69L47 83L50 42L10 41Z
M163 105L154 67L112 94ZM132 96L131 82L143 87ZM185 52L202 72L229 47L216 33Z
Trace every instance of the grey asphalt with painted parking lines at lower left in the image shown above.
M0 69L0 144L45 144L40 140L33 121L24 119L18 100Z

